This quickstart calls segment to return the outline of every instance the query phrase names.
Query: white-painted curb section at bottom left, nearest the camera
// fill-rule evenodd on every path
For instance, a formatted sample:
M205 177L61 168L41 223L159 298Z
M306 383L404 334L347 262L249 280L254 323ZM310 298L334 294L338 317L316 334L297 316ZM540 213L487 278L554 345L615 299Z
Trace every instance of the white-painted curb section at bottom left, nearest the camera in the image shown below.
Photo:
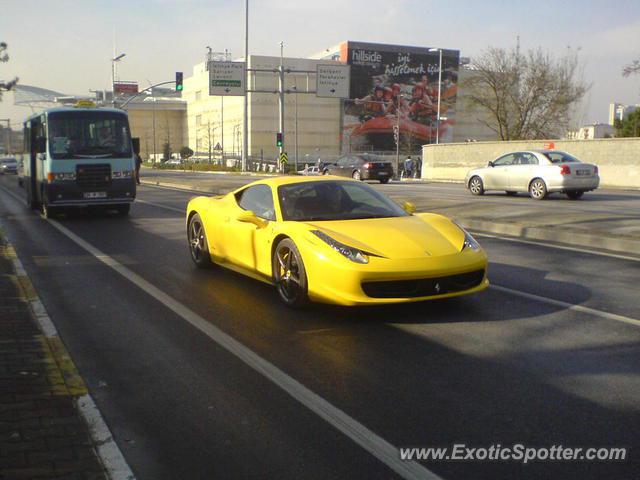
M96 449L102 464L106 468L110 480L135 480L133 472L122 456L122 452L113 440L111 431L91 395L82 395L76 401L78 410L84 417L91 438L96 444Z

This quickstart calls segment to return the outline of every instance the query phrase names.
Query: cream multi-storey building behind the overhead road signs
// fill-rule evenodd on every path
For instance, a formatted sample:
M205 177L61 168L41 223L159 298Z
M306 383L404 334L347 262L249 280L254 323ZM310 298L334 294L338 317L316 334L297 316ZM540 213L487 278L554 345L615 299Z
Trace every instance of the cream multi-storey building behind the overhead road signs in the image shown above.
M315 95L317 64L339 62L306 58L284 58L285 150L289 161L315 162L340 152L340 100ZM278 74L280 57L249 56L248 68L267 70L249 73L248 156L253 162L275 161L279 130ZM304 71L305 73L296 73ZM256 92L258 91L258 92ZM307 93L309 92L309 93ZM242 157L243 97L210 96L209 72L202 62L184 80L189 147L201 160L227 161ZM296 155L297 152L297 155ZM229 163L229 162L228 162Z

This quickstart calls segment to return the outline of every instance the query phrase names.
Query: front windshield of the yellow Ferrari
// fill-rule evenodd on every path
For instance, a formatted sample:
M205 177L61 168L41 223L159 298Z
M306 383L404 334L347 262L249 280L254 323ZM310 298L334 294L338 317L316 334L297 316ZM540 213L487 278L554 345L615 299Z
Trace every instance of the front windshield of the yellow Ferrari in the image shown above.
M284 220L355 220L408 215L366 183L323 180L281 185L278 198Z

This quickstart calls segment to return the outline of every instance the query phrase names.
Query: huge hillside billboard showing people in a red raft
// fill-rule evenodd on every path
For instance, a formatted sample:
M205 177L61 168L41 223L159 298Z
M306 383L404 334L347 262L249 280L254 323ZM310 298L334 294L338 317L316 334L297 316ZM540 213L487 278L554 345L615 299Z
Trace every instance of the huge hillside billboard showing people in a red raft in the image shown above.
M435 50L435 49L434 49ZM455 123L460 52L345 42L340 60L351 66L351 98L344 102L343 151L417 153L425 143L451 141Z

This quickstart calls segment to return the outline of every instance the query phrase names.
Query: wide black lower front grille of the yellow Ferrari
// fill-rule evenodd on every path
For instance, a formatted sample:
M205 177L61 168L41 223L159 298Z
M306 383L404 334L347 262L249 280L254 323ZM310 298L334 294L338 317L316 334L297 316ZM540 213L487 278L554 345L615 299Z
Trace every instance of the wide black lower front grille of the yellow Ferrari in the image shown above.
M362 282L362 290L371 298L429 297L477 287L483 278L484 270L476 270L448 277Z

